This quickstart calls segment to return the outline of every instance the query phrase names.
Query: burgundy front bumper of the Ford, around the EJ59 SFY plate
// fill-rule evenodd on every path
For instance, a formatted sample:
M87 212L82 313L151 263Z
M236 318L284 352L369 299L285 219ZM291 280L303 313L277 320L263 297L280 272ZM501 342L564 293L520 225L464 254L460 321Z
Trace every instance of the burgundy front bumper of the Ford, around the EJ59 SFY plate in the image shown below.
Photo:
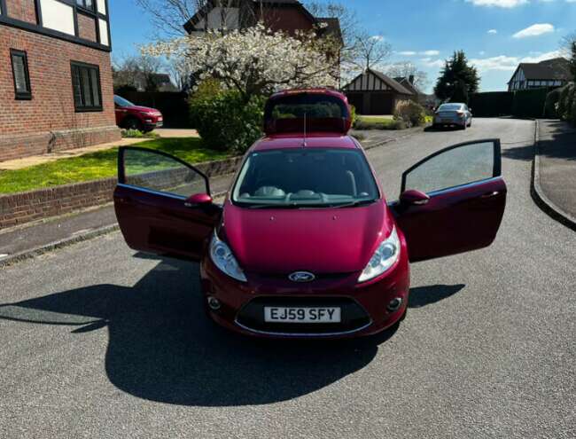
M308 284L297 284L286 276L259 276L246 273L241 283L218 270L209 257L200 267L203 293L221 303L207 313L216 323L237 333L265 338L349 338L371 335L396 323L409 299L409 263L406 248L399 261L382 277L357 284L360 273L319 276ZM398 310L386 306L401 298ZM205 300L205 303L206 303ZM339 324L266 323L264 306L331 307L342 310Z

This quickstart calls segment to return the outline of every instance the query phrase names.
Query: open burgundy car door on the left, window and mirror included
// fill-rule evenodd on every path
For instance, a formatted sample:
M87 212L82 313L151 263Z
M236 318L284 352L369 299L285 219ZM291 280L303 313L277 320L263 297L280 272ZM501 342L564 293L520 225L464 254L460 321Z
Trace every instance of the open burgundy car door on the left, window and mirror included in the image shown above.
M167 153L121 147L114 208L129 247L198 261L222 215L208 178Z

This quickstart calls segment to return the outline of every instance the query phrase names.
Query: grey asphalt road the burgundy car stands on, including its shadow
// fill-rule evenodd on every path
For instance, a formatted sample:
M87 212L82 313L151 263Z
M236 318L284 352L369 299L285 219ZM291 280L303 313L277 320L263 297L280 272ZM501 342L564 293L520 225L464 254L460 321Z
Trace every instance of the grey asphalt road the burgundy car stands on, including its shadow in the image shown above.
M198 265L120 233L0 269L0 437L575 437L576 235L530 197L533 131L476 119L370 150L393 199L425 155L502 137L509 186L494 245L414 264L377 338L227 333Z

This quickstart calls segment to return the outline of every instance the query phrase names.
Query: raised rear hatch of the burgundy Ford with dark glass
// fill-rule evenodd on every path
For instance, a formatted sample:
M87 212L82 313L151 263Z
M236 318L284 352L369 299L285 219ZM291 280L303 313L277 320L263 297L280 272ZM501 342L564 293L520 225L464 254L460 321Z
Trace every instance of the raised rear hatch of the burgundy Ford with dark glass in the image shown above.
M351 126L346 96L335 90L281 91L269 98L264 111L266 134L346 134Z

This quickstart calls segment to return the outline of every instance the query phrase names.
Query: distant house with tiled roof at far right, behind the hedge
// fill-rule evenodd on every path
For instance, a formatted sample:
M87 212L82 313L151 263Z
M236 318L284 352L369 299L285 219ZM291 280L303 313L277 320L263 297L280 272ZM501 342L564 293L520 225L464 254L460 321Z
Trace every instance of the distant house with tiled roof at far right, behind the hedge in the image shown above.
M571 80L570 61L564 58L546 59L539 63L520 63L508 90L528 90L541 87L562 87Z

